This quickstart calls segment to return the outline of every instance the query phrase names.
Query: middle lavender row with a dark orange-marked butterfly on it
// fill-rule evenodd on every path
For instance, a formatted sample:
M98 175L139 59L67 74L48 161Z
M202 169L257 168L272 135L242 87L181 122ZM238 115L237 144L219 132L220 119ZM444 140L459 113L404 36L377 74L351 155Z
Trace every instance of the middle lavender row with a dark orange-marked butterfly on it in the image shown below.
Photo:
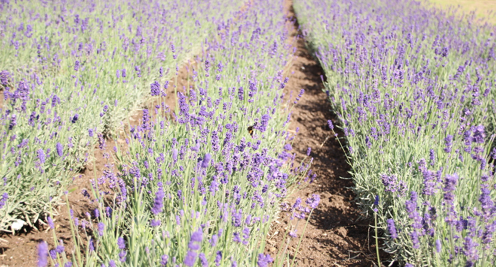
M270 224L289 191L314 178L311 160L298 163L291 154L288 114L296 102L283 89L294 50L285 25L281 2L251 1L217 24L190 88L149 84L159 103L177 94L175 111L144 109L124 147L99 140L108 168L87 195L96 209L82 217L71 210L75 249L54 229L58 246L41 243L39 266L273 262L264 254ZM318 203L314 195L288 209L304 219Z

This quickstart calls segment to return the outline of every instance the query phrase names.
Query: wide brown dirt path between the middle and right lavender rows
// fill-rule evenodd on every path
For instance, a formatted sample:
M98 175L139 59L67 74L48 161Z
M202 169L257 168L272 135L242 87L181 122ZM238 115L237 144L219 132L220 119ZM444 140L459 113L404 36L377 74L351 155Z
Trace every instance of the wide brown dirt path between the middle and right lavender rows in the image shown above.
M292 0L285 0L284 8L288 17L294 19ZM298 24L292 27L291 36L299 34L297 29ZM323 70L309 55L303 38L298 38L296 46L298 50L289 71L292 75L286 89L288 93L292 91L294 98L300 89L304 89L305 93L292 109L289 128L299 128L292 152L296 153L297 162L300 162L306 156L308 147L311 148L311 168L317 179L294 193L288 201L294 203L298 197L305 200L312 193L321 197L319 207L313 211L306 227L296 255L296 266L372 266L375 261L375 247L372 246L375 239L369 234L372 229L369 229L369 222L358 221L357 207L352 203L354 195L348 189L353 186L352 180L340 178L350 177L349 165L339 142L327 126L327 120L334 120L335 114L329 111L330 103L322 91ZM337 134L344 136L342 132ZM273 233L278 233L267 242L266 249L273 257L279 246L285 246L283 235L288 220L287 216L281 217L281 224L273 230ZM296 219L291 223L295 225ZM297 227L298 238L292 238L288 247L291 257L295 256L303 228L304 221L301 221Z

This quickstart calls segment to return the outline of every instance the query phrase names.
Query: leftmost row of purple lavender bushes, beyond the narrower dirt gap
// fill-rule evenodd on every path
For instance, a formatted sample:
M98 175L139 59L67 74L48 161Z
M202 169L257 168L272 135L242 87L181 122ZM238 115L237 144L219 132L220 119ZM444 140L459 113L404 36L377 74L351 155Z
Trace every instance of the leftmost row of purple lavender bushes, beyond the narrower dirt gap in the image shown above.
M88 129L119 132L149 83L173 77L242 1L227 4L0 2L0 231L44 221L91 159Z

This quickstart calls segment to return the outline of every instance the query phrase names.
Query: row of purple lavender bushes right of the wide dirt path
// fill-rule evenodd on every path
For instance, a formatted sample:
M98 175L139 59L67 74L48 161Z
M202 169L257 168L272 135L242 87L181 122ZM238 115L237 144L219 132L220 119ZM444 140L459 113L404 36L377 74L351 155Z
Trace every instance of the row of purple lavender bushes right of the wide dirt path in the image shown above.
M496 29L423 2L295 1L389 260L493 266Z

